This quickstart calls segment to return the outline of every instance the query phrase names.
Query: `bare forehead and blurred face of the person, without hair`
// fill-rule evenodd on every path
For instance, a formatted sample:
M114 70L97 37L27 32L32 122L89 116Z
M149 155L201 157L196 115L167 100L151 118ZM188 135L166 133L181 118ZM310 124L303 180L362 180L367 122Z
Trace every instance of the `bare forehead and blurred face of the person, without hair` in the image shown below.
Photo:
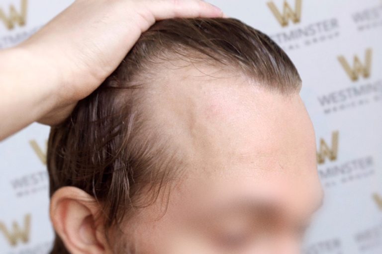
M194 68L174 72L150 101L189 166L166 213L161 199L139 211L124 226L125 242L139 254L298 253L322 198L299 95Z

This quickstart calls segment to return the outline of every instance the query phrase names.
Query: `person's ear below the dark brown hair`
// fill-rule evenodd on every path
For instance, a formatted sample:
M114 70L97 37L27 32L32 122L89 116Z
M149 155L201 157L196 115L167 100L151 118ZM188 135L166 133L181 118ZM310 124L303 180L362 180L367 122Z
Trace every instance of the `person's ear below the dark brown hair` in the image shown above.
M75 187L63 187L50 200L53 227L72 254L110 254L100 206L95 198Z

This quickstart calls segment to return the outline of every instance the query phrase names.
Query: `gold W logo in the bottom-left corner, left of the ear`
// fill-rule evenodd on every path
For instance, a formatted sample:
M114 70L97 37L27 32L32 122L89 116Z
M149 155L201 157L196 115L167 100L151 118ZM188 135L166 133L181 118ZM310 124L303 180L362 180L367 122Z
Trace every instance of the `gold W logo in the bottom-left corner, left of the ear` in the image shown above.
M21 229L16 221L12 223L12 231L8 230L3 223L0 222L0 232L3 233L11 246L16 246L20 240L24 244L29 241L30 232L30 214L24 216L24 228Z

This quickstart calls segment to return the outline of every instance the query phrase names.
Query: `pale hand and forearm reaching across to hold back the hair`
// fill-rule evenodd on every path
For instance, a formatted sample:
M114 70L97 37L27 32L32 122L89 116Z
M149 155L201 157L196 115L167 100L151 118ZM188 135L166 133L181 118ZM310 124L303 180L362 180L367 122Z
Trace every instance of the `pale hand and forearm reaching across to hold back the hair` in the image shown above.
M67 118L156 20L221 16L201 0L76 0L31 38L0 51L0 140L33 122Z

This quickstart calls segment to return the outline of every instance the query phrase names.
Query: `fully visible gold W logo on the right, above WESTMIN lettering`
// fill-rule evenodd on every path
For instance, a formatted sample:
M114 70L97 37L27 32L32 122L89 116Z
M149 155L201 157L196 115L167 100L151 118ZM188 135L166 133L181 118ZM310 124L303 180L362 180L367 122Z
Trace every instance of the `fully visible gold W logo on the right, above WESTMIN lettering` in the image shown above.
M360 75L364 76L364 78L368 78L370 76L370 69L372 66L372 49L366 50L365 64L362 64L357 55L354 56L353 67L350 66L348 61L346 61L343 56L339 56L338 61L340 61L342 67L344 67L346 73L352 81L357 81Z

